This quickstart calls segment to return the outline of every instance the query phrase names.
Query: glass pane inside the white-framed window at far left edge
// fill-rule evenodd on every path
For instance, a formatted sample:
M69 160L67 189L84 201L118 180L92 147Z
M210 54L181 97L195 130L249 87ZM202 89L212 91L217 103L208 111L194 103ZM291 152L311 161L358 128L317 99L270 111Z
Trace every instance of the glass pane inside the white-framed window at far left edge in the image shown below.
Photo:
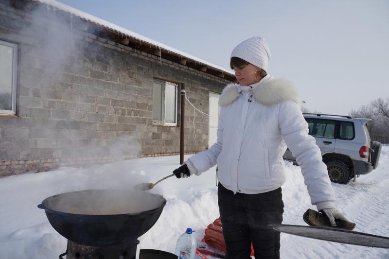
M12 110L14 48L0 42L0 110Z

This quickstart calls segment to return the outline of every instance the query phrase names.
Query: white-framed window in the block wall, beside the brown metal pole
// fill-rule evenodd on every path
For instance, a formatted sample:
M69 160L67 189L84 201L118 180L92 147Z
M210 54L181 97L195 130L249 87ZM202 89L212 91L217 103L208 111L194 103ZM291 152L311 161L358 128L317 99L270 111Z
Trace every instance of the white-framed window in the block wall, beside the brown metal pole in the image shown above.
M153 86L153 122L177 125L177 88L171 82L155 79Z

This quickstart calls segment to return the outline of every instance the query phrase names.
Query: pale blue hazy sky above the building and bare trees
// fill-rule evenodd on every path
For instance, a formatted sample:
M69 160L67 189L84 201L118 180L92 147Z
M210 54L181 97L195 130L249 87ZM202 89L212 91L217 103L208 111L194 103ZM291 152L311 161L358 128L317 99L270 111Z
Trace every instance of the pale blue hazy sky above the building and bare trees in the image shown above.
M263 36L269 74L292 81L310 111L389 97L387 0L59 1L226 69L238 43Z

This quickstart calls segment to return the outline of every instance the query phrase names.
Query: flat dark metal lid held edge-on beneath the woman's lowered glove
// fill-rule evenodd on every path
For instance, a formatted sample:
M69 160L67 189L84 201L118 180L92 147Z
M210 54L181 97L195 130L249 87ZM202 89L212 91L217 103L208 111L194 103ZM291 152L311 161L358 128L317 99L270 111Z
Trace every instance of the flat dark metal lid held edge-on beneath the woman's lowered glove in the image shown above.
M274 230L306 238L389 249L389 238L320 226L269 225Z

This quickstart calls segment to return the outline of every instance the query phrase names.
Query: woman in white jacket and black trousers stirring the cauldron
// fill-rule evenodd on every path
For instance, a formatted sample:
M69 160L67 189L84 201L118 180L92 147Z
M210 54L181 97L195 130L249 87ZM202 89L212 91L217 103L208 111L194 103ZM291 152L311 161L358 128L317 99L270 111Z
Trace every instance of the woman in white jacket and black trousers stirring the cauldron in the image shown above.
M311 202L324 210L332 225L346 220L336 209L334 191L315 138L308 135L296 89L267 74L270 50L262 37L234 48L230 67L239 82L226 86L217 142L191 156L173 173L178 178L199 175L218 165L218 205L227 259L280 258L280 233L267 227L281 224L285 182L283 153L296 156Z

